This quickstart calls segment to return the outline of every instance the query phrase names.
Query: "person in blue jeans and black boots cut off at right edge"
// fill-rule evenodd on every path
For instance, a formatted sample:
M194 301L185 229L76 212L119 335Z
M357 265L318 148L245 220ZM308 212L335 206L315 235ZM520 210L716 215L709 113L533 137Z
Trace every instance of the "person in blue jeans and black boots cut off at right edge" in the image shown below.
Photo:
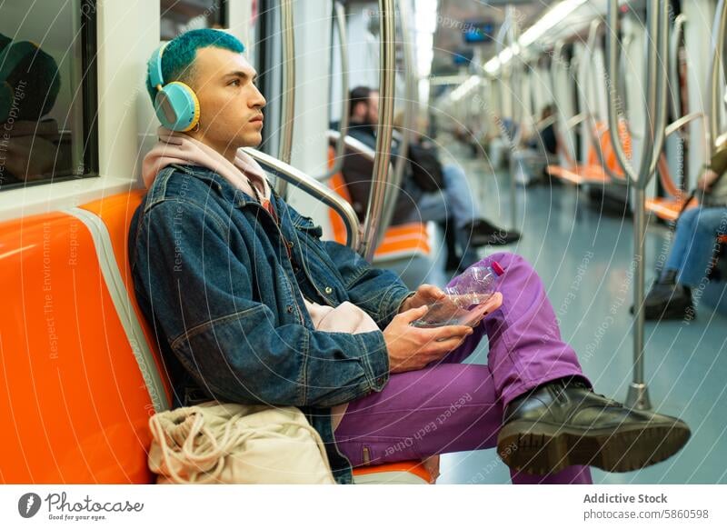
M680 215L666 265L644 300L647 320L692 319L691 289L710 274L715 240L727 234L727 145L722 145L697 182L701 205Z

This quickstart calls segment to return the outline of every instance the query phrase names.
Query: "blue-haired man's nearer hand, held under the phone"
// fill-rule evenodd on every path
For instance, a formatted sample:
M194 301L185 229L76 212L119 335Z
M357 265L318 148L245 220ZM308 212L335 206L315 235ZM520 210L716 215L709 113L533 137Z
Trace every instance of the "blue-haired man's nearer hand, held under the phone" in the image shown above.
M416 297L416 296L412 296ZM383 329L383 340L389 354L389 372L403 373L422 369L440 360L464 338L473 334L468 325L445 325L436 328L419 328L410 325L427 311L423 305L393 317L392 323Z

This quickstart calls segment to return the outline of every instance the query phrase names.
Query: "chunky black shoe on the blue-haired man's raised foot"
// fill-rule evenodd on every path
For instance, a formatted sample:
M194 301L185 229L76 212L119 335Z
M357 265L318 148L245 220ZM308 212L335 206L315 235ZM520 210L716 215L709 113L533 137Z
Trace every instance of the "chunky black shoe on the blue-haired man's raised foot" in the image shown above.
M510 468L548 474L573 464L628 472L679 452L689 427L595 394L581 381L538 386L505 408L497 452Z

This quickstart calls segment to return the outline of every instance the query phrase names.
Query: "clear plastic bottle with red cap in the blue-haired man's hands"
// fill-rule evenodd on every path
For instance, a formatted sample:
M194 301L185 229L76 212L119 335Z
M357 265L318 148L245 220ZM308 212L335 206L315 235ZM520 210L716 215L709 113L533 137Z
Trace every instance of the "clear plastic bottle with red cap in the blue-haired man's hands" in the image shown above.
M503 267L497 261L489 266L470 266L454 279L453 284L443 289L446 297L429 305L426 314L412 324L416 327L441 327L474 322L468 317L470 310L494 294L497 279L502 274Z

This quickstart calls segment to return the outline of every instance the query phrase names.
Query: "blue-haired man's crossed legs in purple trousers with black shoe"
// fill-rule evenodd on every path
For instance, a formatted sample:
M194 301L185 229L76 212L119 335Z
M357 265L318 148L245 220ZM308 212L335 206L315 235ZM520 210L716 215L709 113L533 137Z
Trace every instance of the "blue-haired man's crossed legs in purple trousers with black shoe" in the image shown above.
M348 404L335 439L351 463L498 446L513 483L589 484L585 464L625 471L677 452L686 424L594 394L540 277L518 255L483 263L492 260L505 269L502 306L443 361L393 374L383 391ZM488 364L461 364L485 334Z

